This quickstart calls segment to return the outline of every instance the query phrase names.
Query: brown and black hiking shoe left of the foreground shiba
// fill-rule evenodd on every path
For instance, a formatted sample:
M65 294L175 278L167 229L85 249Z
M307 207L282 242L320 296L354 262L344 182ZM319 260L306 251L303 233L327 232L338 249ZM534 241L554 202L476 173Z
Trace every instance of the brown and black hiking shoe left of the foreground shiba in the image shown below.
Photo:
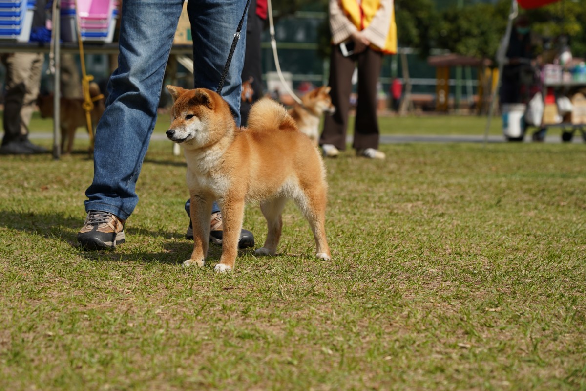
M77 233L77 242L84 249L114 249L124 243L124 222L113 213L90 210L83 228Z

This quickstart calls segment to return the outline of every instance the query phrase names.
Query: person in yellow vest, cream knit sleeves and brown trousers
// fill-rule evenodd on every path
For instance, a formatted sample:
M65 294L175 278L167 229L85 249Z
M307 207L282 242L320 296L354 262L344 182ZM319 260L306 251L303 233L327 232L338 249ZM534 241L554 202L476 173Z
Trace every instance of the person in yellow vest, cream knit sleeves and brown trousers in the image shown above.
M377 81L383 54L397 52L393 0L330 0L332 32L329 86L336 113L325 118L319 144L326 157L346 149L352 74L358 69L358 103L353 148L359 156L384 159L379 151Z

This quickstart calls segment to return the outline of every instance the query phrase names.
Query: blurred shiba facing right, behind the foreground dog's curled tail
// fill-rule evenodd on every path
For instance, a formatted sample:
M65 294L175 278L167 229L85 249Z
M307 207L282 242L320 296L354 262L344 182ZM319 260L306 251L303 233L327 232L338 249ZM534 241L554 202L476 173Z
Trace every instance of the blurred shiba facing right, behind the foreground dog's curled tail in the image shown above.
M322 114L332 115L336 111L329 96L331 89L332 87L322 86L311 90L301 97L302 105L295 103L289 109L289 115L295 120L299 130L307 135L314 145L318 145L319 121Z

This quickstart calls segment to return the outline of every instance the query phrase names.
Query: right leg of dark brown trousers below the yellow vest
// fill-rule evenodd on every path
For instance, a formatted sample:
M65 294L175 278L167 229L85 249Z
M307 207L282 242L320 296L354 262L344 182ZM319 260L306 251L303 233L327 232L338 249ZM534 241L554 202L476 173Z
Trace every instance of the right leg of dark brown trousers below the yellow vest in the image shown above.
M380 52L366 49L358 55L358 105L352 145L358 151L379 148L376 85L382 65L383 55Z

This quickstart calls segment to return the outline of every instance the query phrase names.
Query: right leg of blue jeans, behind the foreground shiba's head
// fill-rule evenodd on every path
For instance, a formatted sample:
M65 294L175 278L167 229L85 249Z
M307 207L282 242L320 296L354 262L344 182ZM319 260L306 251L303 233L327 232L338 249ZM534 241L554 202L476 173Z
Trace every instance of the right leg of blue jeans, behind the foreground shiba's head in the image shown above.
M189 0L187 9L193 36L193 80L196 88L216 91L230 53L234 33L244 13L246 0ZM246 20L230 63L222 97L240 126L241 73L246 47Z

